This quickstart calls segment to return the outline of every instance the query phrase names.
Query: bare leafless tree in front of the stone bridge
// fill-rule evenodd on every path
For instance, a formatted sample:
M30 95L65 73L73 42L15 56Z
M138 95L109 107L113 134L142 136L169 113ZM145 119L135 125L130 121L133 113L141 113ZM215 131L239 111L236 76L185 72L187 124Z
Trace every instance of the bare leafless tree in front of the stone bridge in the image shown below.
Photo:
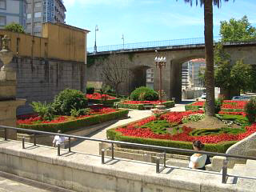
M119 95L119 86L126 82L130 75L128 66L128 58L123 54L111 54L108 58L98 61L99 66L102 67L102 78L110 83L116 91L117 97Z

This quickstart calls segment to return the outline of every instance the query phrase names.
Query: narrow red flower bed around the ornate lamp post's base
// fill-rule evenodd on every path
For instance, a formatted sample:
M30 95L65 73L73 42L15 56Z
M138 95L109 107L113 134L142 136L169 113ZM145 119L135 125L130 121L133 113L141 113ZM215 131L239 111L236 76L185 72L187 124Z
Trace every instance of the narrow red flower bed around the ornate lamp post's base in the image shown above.
M116 102L115 104L119 108L126 108L126 109L135 109L135 110L145 110L145 106L157 106L160 105L160 101L123 101L123 102ZM166 108L174 107L174 101L162 101L162 105L166 106Z

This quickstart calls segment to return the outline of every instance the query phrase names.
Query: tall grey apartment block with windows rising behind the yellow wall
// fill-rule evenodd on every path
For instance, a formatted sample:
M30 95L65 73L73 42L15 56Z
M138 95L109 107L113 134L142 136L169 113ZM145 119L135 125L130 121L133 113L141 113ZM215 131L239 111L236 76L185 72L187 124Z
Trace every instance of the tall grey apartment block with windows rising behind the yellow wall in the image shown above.
M43 22L65 23L62 0L27 0L26 33L42 36Z

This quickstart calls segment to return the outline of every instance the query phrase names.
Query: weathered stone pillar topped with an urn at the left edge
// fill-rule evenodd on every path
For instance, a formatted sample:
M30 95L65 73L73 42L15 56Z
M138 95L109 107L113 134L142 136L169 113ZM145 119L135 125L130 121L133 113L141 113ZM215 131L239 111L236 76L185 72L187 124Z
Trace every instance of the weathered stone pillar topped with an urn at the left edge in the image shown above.
M24 105L25 99L16 99L16 71L8 66L14 57L14 54L8 49L10 38L6 35L2 38L2 50L0 59L4 66L0 70L0 126L16 126L16 109ZM0 136L4 134L0 130ZM16 139L16 130L7 130L7 138Z

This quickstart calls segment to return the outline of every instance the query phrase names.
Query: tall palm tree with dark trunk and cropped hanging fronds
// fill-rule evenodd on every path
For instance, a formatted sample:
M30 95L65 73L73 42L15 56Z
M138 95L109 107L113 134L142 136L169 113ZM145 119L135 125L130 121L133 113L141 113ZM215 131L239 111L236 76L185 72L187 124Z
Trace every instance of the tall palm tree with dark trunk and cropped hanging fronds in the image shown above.
M206 115L214 116L214 35L213 35L213 4L220 6L222 1L229 0L184 0L185 2L200 2L200 6L204 6L204 20L205 20L205 57L206 57L206 72L205 72L205 86L206 86Z

